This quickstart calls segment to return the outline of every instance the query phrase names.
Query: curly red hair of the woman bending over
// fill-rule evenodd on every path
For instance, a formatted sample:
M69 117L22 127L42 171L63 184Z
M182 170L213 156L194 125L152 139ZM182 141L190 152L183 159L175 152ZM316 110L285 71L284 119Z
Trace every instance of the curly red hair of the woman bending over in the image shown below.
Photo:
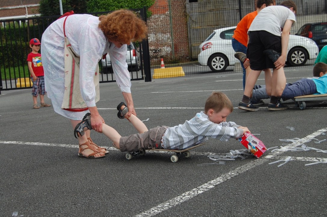
M115 10L99 17L99 28L109 40L129 44L146 38L146 23L131 10Z

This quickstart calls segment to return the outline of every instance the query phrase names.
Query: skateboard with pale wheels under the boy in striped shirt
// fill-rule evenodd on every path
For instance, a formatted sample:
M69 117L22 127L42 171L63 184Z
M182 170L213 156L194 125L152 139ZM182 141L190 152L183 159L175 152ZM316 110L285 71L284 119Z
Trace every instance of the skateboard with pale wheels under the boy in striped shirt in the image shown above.
M141 150L141 151L134 151L134 152L128 152L126 153L126 159L130 160L133 158L133 156L135 155L145 155L146 151L171 151L171 152L175 152L174 155L172 155L170 157L171 162L176 163L178 161L179 157L185 157L185 158L189 158L191 157L191 152L189 151L190 149L199 147L199 146L203 146L205 143L200 143L196 146L193 147L189 147L189 148L185 148L185 149L145 149L145 150Z

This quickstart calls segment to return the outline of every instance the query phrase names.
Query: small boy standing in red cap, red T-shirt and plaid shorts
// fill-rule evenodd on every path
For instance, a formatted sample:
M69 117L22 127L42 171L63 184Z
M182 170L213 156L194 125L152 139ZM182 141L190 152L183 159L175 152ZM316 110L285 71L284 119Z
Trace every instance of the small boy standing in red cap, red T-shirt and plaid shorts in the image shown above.
M37 103L38 94L40 94L41 107L50 106L50 104L44 102L44 95L46 92L44 88L44 71L41 54L38 53L40 46L41 43L39 39L31 39L29 41L29 47L32 49L32 52L27 55L27 66L33 82L32 96L33 108L35 109L40 108Z

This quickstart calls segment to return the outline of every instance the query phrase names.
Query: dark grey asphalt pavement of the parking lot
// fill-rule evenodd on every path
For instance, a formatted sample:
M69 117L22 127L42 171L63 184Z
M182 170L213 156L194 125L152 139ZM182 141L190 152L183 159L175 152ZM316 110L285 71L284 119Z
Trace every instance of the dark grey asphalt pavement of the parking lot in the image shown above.
M285 68L285 74L294 82L312 76L312 67ZM264 84L263 73L258 84ZM68 119L52 107L33 109L31 89L1 91L0 216L326 216L327 153L308 148L327 150L326 101L300 110L289 100L288 110L268 111L264 100L259 111L243 111L237 108L242 74L233 71L132 82L137 116L148 128L191 119L212 91L231 99L227 121L248 127L271 148L262 157L213 164L209 155L244 147L210 138L176 163L170 152L127 160L107 137L92 132L110 153L80 158ZM123 101L117 84L100 84L100 99L106 124L123 136L136 132L117 117ZM289 150L295 147L308 150Z

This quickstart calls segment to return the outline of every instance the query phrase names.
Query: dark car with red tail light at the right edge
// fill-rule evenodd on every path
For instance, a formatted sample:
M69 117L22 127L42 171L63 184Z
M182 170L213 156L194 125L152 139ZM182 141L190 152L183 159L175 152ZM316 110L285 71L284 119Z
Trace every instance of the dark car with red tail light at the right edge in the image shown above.
M295 35L314 40L320 51L323 46L327 45L327 23L304 24Z

